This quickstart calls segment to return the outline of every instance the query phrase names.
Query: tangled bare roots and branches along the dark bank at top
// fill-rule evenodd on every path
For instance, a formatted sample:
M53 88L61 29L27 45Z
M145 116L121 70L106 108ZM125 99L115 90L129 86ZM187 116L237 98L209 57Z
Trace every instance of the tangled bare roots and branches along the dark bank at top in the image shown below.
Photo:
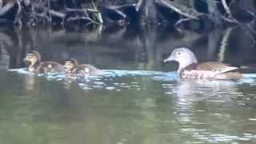
M73 4L68 4L72 2ZM68 2L62 0L0 0L0 16L18 26L30 26L31 22L33 25L52 23L66 25L81 20L83 26L102 25L103 21L106 26L107 23L111 25L118 22L129 23L129 21L137 22L134 26L157 25L159 22L169 24L168 21L172 22L173 26L178 26L187 21L210 21L214 26L226 26L226 23L232 23L245 27L244 23L236 19L232 11L234 9L231 6L238 4L235 0L205 0L203 2L206 3L205 9L208 10L204 13L199 12L202 10L196 8L194 0L191 0L188 6L170 0L86 0L79 1L79 4L77 0L68 0ZM218 10L219 6L224 9L225 14ZM8 15L9 12L13 15ZM246 10L246 13L256 18L254 12ZM176 16L172 19L168 17L168 14L176 14L178 18ZM202 15L206 15L207 19L199 18Z

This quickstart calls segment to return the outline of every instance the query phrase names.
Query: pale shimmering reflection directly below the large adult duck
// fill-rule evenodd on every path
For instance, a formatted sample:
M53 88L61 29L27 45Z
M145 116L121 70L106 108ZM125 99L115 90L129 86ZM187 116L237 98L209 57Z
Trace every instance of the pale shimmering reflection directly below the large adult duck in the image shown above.
M201 111L204 114L208 105L216 107L216 110L227 103L236 106L232 98L239 94L237 85L237 82L232 81L182 79L176 86L171 85L167 94L174 96L179 122L198 123L197 117L200 115L195 114Z

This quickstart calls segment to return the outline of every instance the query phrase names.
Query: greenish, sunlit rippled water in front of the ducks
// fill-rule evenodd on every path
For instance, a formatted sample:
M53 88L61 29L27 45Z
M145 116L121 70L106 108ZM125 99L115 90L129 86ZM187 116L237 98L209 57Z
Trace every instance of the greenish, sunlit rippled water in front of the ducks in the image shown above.
M15 115L3 115L7 119L21 119L18 122L22 127L18 131L25 129L22 136L33 142L37 141L34 137L61 143L256 140L253 128L256 115L254 106L250 105L256 102L256 95L255 89L247 86L250 83L180 80L176 73L157 71L103 71L105 74L97 77L66 82L63 74L31 77L23 69L11 70L13 76L8 77L9 81L17 83L14 90L7 90L8 98L17 97L17 88L27 77L34 78L34 87L19 88L18 99L2 99L9 106L19 103L17 110L11 109ZM25 87L29 86L28 82ZM5 97L6 94L2 98ZM250 104L241 105L248 98ZM9 109L2 107L2 110ZM1 118L0 121L0 127L7 126L8 134L15 138L12 126L16 125L17 131L18 122L2 122ZM10 142L10 138L3 142Z

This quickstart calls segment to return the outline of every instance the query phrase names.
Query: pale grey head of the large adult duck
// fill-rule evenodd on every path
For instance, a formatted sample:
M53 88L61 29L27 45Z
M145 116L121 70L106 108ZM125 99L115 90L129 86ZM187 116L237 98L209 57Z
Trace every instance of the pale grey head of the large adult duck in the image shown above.
M163 60L163 62L176 61L178 62L178 73L181 72L186 66L190 66L192 63L198 63L193 52L186 47L176 48L170 54L170 56Z

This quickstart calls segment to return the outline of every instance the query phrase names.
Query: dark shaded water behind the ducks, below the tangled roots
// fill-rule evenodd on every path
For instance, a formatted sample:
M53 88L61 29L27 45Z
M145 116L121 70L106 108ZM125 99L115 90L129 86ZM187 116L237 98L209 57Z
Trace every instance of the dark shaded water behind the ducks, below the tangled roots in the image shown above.
M10 57L10 69L23 67L22 58L30 50L42 53L43 60L63 63L66 58L75 57L81 63L103 69L162 70L162 58L178 46L190 47L199 61L224 60L234 65L250 65L255 61L253 43L238 28L204 34L157 26L137 33L132 31L130 27L114 30L96 27L81 33L43 28L2 29L1 48L7 54L1 55ZM235 58L238 54L239 59ZM133 64L132 68L125 65L127 62Z

